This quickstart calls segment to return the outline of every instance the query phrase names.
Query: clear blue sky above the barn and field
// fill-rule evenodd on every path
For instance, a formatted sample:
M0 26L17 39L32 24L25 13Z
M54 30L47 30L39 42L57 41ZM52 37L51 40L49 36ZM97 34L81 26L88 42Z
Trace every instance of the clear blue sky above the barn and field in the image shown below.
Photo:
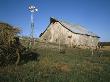
M0 22L19 27L21 35L31 33L29 5L35 5L34 36L39 37L50 17L80 24L100 36L100 41L110 41L110 0L0 0Z

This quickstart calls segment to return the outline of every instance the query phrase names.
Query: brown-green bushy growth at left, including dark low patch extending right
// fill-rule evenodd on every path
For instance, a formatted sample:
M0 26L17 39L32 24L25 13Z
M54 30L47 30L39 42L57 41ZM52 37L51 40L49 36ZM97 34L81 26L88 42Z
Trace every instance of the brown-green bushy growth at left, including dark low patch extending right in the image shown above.
M7 23L0 23L0 66L18 65L22 60L37 60L37 53L26 49L20 42L18 28Z

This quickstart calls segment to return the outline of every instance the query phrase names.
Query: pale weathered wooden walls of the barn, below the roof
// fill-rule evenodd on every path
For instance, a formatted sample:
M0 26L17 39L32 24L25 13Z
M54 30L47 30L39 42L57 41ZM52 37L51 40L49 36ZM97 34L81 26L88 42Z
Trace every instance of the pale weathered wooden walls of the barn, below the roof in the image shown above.
M75 34L64 28L59 22L51 23L40 40L51 43L60 42L61 44L83 48L95 48L99 42L97 37Z

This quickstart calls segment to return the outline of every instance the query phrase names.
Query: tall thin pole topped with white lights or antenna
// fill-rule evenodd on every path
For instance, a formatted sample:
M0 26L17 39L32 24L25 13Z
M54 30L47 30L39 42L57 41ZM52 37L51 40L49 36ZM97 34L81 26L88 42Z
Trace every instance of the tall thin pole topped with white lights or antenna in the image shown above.
M31 38L30 45L34 45L34 13L38 11L38 9L34 5L29 6L29 11L31 12Z

